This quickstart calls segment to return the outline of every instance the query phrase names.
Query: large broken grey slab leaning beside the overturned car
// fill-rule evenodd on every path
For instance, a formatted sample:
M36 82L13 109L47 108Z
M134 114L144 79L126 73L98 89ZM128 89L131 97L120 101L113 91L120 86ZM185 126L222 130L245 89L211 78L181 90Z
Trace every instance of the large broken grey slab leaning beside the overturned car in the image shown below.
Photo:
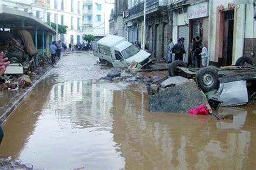
M201 104L208 104L206 96L193 80L160 90L150 96L149 110L152 112L187 113Z

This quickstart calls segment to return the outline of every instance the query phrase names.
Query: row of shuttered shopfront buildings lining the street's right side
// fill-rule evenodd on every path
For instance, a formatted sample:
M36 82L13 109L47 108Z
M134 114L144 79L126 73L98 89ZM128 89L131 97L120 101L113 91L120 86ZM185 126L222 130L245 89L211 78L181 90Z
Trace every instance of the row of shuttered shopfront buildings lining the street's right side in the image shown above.
M146 47L160 60L166 58L169 38L175 44L184 37L184 60L191 63L190 44L198 36L208 48L211 65L232 65L241 56L255 62L255 4L255 0L147 0ZM117 8L123 37L142 43L144 1L127 0Z

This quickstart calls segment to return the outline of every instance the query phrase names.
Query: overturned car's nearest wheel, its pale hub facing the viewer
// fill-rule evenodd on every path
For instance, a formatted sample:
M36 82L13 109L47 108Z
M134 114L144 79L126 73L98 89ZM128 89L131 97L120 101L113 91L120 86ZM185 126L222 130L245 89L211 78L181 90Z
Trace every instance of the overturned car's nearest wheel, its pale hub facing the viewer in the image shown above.
M198 86L208 92L219 88L218 70L215 67L205 67L197 72Z

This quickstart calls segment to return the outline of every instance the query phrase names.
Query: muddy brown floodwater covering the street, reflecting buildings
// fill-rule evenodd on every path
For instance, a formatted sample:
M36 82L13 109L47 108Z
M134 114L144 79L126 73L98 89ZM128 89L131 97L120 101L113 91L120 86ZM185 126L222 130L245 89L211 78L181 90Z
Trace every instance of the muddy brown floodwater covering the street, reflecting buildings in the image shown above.
M255 169L256 106L233 119L147 111L137 86L100 81L90 53L65 56L4 125L1 157L44 169Z

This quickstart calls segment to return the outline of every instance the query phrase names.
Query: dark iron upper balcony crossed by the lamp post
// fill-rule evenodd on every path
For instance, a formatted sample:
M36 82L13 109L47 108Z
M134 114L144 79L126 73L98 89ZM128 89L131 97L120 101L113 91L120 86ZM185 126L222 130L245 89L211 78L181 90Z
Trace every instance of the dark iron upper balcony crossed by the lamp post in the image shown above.
M147 14L155 12L160 8L167 7L167 4L167 0L146 0L146 12ZM125 11L125 20L141 17L143 15L143 12L144 2L140 2L129 10Z

